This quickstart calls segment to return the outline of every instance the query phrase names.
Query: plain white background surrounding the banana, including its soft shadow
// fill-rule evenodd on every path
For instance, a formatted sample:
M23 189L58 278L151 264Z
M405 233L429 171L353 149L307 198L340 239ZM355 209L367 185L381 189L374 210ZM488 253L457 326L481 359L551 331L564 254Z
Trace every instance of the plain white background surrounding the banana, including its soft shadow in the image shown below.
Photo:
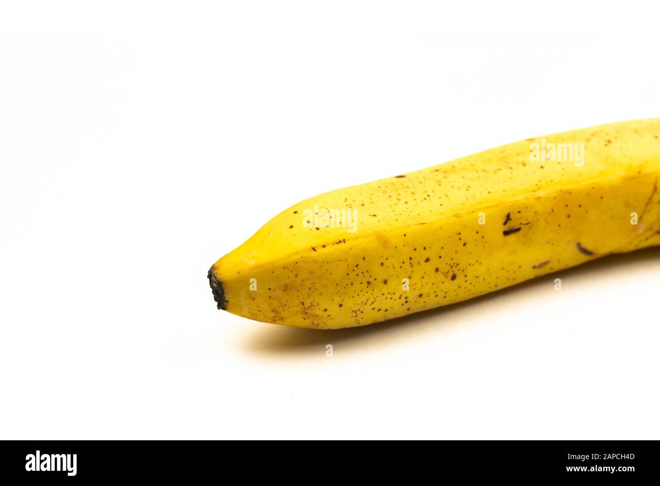
M368 328L215 309L300 199L660 116L644 3L460 5L3 2L0 438L659 438L659 248Z

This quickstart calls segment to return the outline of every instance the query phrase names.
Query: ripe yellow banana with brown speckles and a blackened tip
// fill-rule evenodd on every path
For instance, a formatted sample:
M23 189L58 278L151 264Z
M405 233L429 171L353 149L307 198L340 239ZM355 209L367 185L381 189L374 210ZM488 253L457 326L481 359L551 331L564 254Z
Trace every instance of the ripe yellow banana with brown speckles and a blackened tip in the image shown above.
M526 139L282 211L209 271L218 308L365 326L660 244L660 118Z

